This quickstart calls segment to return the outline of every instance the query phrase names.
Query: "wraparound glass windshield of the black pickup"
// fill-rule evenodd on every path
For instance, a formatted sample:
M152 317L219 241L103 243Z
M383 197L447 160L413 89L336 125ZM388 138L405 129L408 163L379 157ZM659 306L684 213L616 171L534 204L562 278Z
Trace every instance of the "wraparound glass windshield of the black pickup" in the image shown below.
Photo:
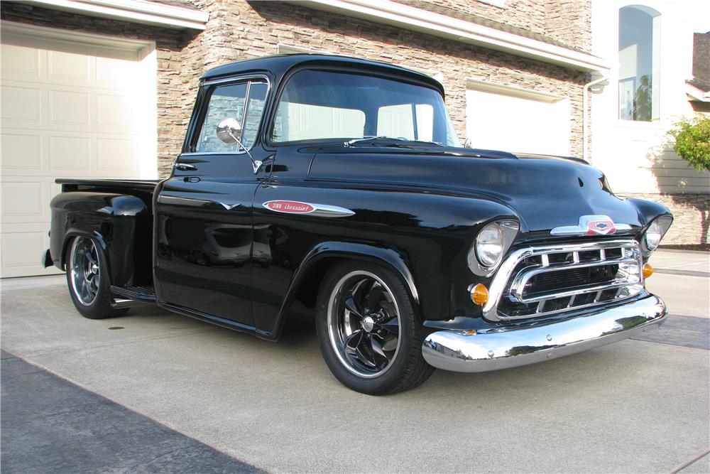
M276 143L374 136L461 146L437 90L321 70L290 77L271 130Z

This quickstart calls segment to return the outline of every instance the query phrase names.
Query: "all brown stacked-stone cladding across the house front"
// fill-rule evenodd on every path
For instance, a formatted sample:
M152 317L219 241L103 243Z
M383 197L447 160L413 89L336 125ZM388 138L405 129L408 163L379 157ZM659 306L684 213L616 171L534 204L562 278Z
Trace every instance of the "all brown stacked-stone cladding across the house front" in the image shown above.
M582 153L582 90L589 74L475 45L428 36L403 28L310 9L298 2L192 0L209 13L203 32L171 30L95 18L31 4L4 1L1 18L104 36L155 41L158 59L158 168L170 172L182 139L200 76L209 68L278 53L279 45L324 50L371 60L436 71L442 75L446 102L457 133L466 134L466 79L513 85L569 97L570 146ZM412 2L407 1L408 4ZM471 0L420 0L421 8L445 7L513 28L523 28L577 50L591 49L589 0L506 0L505 8ZM515 111L511 110L511 114ZM514 130L510 131L515 133ZM672 243L701 238L697 206L652 195L682 219L676 220ZM707 203L705 203L707 210ZM680 224L685 218L689 224ZM697 227L697 229L695 229ZM698 235L697 235L698 234ZM667 241L668 242L668 241Z

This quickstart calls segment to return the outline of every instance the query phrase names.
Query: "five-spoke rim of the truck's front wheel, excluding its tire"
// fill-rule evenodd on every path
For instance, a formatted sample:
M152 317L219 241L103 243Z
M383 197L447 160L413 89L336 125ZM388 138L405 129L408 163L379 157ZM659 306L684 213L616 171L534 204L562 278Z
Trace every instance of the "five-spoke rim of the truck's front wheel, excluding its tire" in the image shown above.
M327 309L330 344L359 377L387 372L400 349L399 308L392 291L368 271L351 271L335 284Z

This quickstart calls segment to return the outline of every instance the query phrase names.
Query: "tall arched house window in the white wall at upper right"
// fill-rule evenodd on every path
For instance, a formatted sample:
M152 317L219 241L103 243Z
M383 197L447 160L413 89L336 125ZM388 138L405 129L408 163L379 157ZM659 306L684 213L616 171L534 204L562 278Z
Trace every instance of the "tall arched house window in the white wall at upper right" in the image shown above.
M619 9L619 118L659 117L660 14L646 6Z

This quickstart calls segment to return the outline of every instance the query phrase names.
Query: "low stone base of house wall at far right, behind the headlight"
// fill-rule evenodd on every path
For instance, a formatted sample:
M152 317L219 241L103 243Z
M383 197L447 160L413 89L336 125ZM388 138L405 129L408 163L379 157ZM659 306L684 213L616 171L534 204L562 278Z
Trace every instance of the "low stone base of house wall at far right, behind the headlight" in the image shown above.
M665 205L673 213L673 225L662 240L665 245L710 243L710 194L625 193L624 198L639 198Z

